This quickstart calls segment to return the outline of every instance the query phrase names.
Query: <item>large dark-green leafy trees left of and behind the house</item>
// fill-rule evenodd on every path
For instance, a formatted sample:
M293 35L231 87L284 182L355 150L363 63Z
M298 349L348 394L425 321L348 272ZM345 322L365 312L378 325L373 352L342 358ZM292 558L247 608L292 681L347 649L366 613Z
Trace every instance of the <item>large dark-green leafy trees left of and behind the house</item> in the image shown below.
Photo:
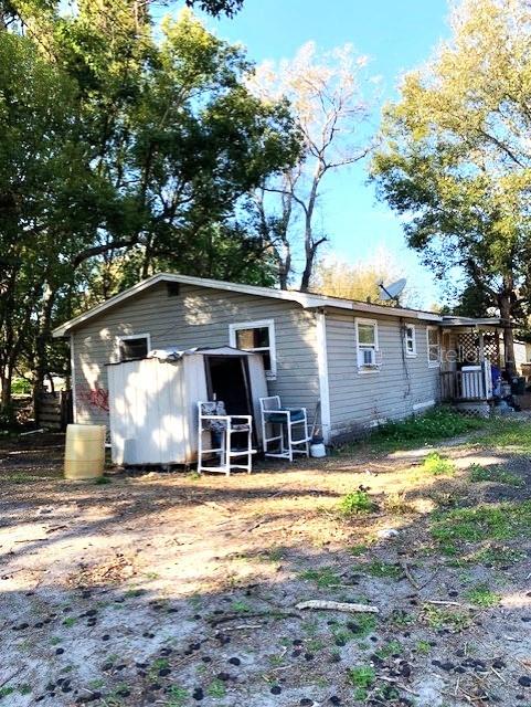
M286 105L252 95L243 51L190 11L156 41L136 0L79 0L74 15L20 7L19 24L0 30L4 409L22 360L41 387L56 317L104 295L102 273L113 273L105 295L160 264L270 278L238 204L298 154ZM12 31L22 24L24 36Z

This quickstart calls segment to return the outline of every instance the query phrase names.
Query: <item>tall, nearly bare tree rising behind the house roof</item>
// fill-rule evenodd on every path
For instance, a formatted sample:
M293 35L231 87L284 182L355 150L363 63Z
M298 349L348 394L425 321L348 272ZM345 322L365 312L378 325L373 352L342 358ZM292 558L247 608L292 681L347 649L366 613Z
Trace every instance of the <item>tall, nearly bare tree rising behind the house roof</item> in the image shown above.
M293 61L276 67L266 62L252 80L256 95L289 101L302 136L304 151L295 167L265 181L255 193L257 228L272 243L283 288L293 278L298 243L304 251L300 289L306 292L319 247L328 240L315 224L323 179L369 151L361 129L368 115L360 85L365 63L350 44L318 54L308 42Z

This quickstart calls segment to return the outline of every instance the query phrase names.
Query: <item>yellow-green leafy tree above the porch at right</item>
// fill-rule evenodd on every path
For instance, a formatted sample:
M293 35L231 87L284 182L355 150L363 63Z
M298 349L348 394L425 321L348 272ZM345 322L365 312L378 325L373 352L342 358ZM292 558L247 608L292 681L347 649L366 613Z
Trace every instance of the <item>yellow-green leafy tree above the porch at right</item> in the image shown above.
M465 0L452 40L386 108L372 165L410 245L497 307L510 361L512 319L530 303L530 25L523 0Z

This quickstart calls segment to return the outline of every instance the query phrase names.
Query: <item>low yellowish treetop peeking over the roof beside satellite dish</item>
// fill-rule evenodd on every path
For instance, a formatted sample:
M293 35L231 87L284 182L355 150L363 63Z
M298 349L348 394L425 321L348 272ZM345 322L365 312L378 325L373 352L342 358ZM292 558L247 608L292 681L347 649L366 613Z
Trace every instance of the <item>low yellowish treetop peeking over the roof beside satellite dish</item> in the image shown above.
M404 276L405 272L396 266L392 254L381 247L372 257L357 263L339 258L321 260L312 275L310 289L330 297L393 306L394 302L380 298L379 284L383 282L389 285ZM414 305L415 293L411 287L401 294L400 302L402 305Z

